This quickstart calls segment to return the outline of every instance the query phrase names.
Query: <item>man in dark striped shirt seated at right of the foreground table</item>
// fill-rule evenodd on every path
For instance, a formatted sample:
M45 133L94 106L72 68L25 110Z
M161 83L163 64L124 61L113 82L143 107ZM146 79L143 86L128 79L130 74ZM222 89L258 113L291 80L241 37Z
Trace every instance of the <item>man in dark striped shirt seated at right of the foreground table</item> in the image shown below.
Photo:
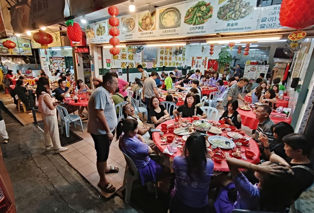
M265 134L268 137L269 143L272 142L274 139L271 126L275 123L269 118L271 112L272 108L270 106L262 105L257 108L257 112L255 113L255 117L259 122L255 134L253 134L252 137L259 146L263 146L263 144L259 140L260 134Z

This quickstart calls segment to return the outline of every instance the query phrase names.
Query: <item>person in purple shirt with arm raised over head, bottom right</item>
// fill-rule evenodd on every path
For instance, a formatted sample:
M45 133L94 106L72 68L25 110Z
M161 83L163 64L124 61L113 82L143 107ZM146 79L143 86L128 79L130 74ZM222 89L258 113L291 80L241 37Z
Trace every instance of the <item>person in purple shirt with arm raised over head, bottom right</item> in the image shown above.
M235 158L227 158L227 164L233 180L221 174L212 182L223 186L214 203L217 213L231 213L234 209L281 212L291 205L294 183L290 167L270 161L255 165ZM255 171L259 183L250 183L239 168Z

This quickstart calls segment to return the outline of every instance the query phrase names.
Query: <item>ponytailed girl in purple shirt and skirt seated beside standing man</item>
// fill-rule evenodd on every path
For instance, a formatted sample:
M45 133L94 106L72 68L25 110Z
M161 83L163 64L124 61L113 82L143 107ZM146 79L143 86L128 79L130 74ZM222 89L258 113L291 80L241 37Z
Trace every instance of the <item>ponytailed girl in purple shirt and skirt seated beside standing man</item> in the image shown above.
M138 122L135 119L127 118L118 123L116 140L118 139L119 149L132 159L143 185L170 173L169 167L164 167L149 157L153 150L146 145L143 137L138 134Z

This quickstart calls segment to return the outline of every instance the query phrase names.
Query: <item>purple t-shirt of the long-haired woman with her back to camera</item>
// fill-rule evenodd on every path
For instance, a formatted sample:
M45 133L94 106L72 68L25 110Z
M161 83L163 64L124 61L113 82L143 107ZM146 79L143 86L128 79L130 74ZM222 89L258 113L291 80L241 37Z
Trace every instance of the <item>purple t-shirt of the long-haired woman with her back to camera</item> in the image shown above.
M182 203L200 208L208 203L208 186L213 174L214 162L207 159L203 172L203 178L187 173L187 160L184 156L176 156L173 159L173 170L176 173L174 193Z

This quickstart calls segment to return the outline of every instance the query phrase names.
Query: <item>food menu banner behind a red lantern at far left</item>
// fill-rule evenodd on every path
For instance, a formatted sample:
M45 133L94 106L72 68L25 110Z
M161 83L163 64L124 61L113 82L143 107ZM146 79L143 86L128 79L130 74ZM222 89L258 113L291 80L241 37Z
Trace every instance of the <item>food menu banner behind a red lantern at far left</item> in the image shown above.
M16 47L13 49L13 55L27 55L27 56L32 55L30 40L18 38L16 36L9 36L9 38L1 40L0 55L11 55L9 50L2 45L2 43L7 40L13 41L16 44Z

